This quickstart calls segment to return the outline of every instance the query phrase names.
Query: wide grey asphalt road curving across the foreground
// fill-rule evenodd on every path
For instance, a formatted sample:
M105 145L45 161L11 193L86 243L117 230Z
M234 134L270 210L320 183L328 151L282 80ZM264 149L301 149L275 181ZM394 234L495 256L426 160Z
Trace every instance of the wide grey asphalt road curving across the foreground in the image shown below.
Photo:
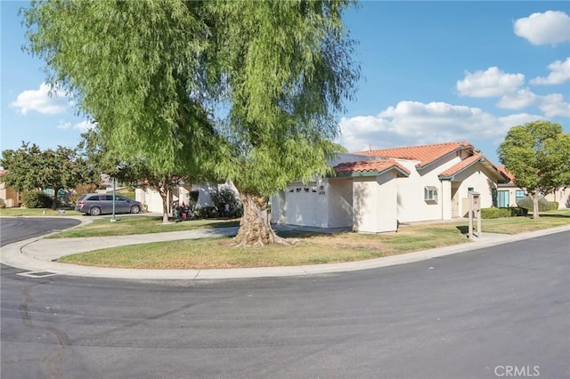
M3 378L570 377L567 232L311 278L17 272L1 272Z

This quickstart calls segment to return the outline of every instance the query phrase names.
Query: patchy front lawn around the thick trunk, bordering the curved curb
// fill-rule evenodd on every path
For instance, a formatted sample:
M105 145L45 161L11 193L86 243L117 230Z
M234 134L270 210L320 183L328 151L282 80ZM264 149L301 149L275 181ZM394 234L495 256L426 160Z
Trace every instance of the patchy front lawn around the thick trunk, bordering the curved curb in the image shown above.
M467 243L454 228L406 228L398 233L334 235L289 231L294 246L233 247L232 238L186 239L120 246L62 257L69 262L98 267L136 269L229 269L362 261L429 247Z

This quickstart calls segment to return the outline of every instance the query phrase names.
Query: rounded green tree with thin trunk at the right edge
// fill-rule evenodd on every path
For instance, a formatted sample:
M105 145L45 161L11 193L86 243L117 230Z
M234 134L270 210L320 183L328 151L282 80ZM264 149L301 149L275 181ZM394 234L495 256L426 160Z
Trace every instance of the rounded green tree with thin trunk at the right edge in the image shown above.
M501 163L518 187L533 199L533 218L539 218L538 200L560 187L570 186L570 133L549 121L512 127L497 150Z

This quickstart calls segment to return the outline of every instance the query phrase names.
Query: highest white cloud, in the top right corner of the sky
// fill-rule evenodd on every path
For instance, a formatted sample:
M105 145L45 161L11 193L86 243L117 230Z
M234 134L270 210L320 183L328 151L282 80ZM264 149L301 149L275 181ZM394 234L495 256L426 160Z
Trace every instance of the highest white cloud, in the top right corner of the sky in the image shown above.
M560 11L533 13L516 20L514 31L531 44L559 44L570 40L570 17Z

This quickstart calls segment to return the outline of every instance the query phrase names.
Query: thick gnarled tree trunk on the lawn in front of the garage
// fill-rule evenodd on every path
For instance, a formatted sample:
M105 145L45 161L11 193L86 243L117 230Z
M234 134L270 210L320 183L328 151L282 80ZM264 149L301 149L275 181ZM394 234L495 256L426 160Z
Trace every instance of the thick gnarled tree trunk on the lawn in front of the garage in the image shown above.
M265 197L240 193L240 199L243 216L238 235L234 238L235 246L265 246L274 243L289 245L289 242L277 236L271 227Z

